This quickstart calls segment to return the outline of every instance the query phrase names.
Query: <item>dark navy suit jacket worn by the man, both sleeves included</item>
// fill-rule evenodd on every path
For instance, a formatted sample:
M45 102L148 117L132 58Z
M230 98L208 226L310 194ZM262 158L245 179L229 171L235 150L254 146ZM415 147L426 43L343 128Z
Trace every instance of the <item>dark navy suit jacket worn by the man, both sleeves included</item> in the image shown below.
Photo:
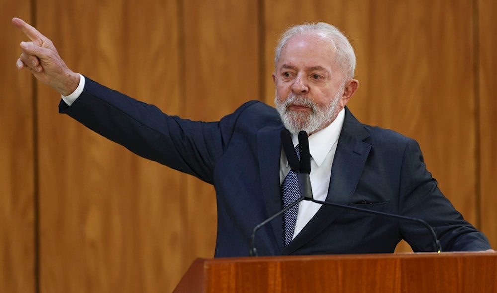
M243 104L219 122L168 116L86 78L82 95L60 112L136 154L214 185L216 257L247 256L253 228L282 209L277 111ZM419 145L394 131L361 124L346 108L327 201L416 217L432 225L444 251L490 249L426 170ZM322 206L286 247L282 217L258 231L259 255L393 252L405 239L431 251L422 225Z

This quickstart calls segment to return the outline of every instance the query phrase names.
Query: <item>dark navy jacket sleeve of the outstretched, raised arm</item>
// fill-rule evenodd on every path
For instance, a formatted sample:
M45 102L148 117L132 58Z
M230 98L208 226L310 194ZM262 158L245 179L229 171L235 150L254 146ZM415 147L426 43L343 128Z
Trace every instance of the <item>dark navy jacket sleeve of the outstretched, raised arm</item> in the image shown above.
M168 116L156 106L89 78L80 97L70 107L61 101L59 111L139 156L211 184L213 169L231 138L238 115L236 112L219 122Z

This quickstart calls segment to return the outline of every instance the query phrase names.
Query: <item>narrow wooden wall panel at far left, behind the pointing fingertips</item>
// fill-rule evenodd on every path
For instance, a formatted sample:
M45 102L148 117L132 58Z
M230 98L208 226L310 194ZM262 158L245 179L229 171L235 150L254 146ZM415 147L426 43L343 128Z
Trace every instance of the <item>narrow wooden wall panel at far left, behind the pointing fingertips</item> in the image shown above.
M35 178L32 78L15 61L30 19L27 0L0 0L0 292L35 293Z

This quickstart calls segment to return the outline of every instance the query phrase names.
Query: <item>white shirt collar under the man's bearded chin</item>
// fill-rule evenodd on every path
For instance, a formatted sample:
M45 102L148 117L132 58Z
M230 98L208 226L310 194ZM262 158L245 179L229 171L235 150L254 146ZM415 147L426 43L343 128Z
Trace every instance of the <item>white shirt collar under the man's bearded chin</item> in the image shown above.
M323 163L331 148L338 142L345 121L345 109L342 109L330 125L309 136L309 152L318 165ZM293 144L299 143L298 135L292 134Z

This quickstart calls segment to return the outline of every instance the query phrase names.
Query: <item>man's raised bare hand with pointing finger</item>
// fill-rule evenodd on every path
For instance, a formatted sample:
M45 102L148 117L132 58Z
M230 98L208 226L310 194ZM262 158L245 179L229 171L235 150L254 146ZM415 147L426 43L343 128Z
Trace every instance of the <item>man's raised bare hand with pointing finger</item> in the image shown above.
M13 18L12 24L30 40L20 44L22 54L17 68L29 69L37 80L64 96L71 94L78 87L80 75L67 67L52 41L22 19Z

